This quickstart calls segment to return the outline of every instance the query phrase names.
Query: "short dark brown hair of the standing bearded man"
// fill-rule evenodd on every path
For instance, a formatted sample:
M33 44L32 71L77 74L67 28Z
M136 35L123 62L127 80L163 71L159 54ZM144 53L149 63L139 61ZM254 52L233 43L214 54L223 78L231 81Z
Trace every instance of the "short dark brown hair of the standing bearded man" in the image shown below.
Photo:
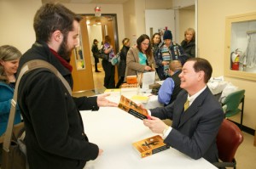
M61 3L46 3L38 9L34 17L36 39L49 42L49 37L57 30L66 37L68 31L73 31L73 21L79 22L81 19L81 16L74 14Z

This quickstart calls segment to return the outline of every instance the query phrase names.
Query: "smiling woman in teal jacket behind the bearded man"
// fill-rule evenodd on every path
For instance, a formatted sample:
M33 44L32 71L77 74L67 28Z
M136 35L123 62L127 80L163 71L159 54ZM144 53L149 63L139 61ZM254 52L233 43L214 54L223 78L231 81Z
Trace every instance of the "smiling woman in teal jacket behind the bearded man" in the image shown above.
M9 121L11 100L15 93L15 74L19 66L20 57L21 53L17 48L9 45L0 47L0 159L2 159L3 133L6 131ZM20 109L17 107L15 124L20 121Z

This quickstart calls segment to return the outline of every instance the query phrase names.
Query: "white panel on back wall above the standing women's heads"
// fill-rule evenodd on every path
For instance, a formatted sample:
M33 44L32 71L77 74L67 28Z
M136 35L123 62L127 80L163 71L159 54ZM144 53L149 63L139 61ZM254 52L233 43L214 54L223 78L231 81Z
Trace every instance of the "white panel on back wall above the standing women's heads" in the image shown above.
M162 29L172 31L172 41L175 41L175 21L174 10L172 9L147 9L145 10L146 34L150 35L150 28L153 28L153 34Z

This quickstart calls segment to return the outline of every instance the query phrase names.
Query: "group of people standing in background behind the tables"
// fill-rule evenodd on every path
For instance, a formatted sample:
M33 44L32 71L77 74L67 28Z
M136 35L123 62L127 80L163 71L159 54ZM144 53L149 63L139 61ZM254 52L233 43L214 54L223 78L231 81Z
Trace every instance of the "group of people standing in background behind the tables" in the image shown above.
M161 41L163 39L163 42ZM95 58L95 68L99 58L96 53L99 52L97 40L93 41L91 51ZM123 47L119 52L118 75L119 81L116 88L119 88L125 82L125 76L137 76L138 73L155 70L160 80L170 77L170 63L172 60L179 60L182 65L189 58L195 58L195 30L189 28L184 32L184 40L181 45L172 41L172 31L166 30L161 37L160 33L154 33L151 39L143 34L137 38L137 44L131 46L130 39L124 38ZM102 59L102 67L105 71L104 87L114 88L114 66L111 59L115 55L110 37L104 37L102 46L104 53L108 54L108 59Z

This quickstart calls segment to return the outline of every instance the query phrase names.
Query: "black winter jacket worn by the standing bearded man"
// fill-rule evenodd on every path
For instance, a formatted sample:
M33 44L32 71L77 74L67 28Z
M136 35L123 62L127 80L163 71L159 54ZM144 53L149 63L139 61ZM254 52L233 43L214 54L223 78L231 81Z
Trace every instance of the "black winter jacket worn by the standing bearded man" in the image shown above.
M20 68L32 59L54 65L73 87L71 72L44 42L36 42L20 59ZM82 169L95 160L99 148L89 142L79 110L98 110L96 97L73 98L49 70L32 70L20 81L18 104L26 127L26 151L31 169Z

